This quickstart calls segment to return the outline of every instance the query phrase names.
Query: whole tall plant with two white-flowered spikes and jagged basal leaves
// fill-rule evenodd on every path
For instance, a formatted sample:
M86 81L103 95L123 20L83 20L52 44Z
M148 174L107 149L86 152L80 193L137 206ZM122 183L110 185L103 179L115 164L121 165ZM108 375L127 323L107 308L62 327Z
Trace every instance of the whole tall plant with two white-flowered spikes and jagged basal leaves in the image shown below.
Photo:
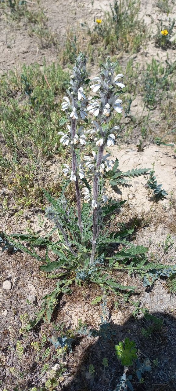
M107 184L117 185L119 181L125 181L124 176L141 175L147 170L133 169L123 173L117 170L118 160L112 160L107 153L106 149L113 147L119 137L119 126L112 127L110 120L114 113L123 111L119 95L124 88L124 76L114 76L117 62L112 63L107 59L107 63L101 65L100 76L87 79L86 61L84 54L80 53L71 80L66 82L68 88L61 104L64 117L60 120L60 126L63 125L66 129L59 131L60 143L71 152L71 165L64 163L62 170L66 181L57 200L43 190L51 204L46 208L46 218L54 223L54 227L45 238L24 234L5 235L16 248L42 262L42 271L60 272L53 275L60 280L52 294L43 298L42 310L32 326L38 323L41 317L47 323L50 322L57 296L61 291L68 292L68 285L71 285L73 280L79 284L89 280L114 292L119 289L133 292L135 287L123 287L108 275L108 269L117 269L118 260L128 261L135 258L135 263L132 262L130 266L134 270L137 256L148 251L148 248L135 247L132 242L126 240L134 228L108 232L105 223L107 216L121 210L121 206L126 202L109 198ZM85 89L89 83L92 95L86 97ZM75 186L76 210L64 195L70 182ZM51 240L54 232L58 235L57 241ZM13 238L28 241L31 251ZM42 258L35 250L35 247L41 245L46 248ZM119 251L109 256L114 246ZM59 256L58 260L51 260L51 252ZM139 271L139 268L137 270Z

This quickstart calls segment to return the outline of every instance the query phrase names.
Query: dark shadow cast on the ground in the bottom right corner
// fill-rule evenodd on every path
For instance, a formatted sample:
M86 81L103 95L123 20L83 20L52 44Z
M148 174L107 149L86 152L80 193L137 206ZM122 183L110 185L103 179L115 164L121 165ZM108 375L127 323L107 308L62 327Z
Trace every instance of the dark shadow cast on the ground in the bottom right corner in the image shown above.
M80 337L70 355L71 377L62 386L62 391L116 390L117 380L123 375L124 367L116 358L114 346L126 337L135 341L140 362L149 359L152 367L150 373L142 375L143 383L137 379L136 365L128 368L127 375L133 376L134 390L176 390L176 319L160 312L153 315L162 319L163 324L160 330L155 330L149 336L144 335L142 329L149 331L151 321L143 316L140 319L131 316L123 325L108 323L101 337ZM104 371L102 360L105 357L108 359L108 367ZM95 369L93 380L89 374L89 364L93 364ZM123 388L117 390L123 391Z

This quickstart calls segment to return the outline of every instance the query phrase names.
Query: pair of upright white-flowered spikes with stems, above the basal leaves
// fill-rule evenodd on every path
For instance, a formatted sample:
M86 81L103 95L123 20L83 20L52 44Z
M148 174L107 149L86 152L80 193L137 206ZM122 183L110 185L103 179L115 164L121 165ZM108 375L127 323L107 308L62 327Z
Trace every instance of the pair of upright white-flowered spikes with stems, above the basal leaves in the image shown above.
M76 66L73 68L73 75L69 82L68 96L64 96L61 104L66 118L63 123L69 122L66 132L59 132L60 142L71 149L71 167L64 163L62 170L64 176L75 183L76 201L78 211L78 225L82 235L82 213L81 213L81 195L85 203L90 203L93 213L92 228L92 246L95 246L98 232L98 221L101 216L101 205L108 202L105 181L108 171L114 167L114 161L109 153L104 153L105 148L115 145L117 140L119 126L109 126L110 119L114 112L122 113L122 100L119 95L125 87L123 84L123 74L117 74L114 77L114 69L117 63L111 63L107 60L101 67L100 76L92 80L86 80L85 72L86 59L84 54L80 53L76 60ZM91 81L91 97L86 98L85 85ZM118 89L116 91L116 89ZM84 120L88 124L87 115L93 116L91 125L88 129L85 126L77 127L77 122ZM88 148L87 148L88 145ZM82 150L86 148L87 154L82 156ZM90 151L91 148L91 151ZM80 185L79 185L79 181ZM84 182L84 186L83 186ZM91 264L94 259L95 248L92 247Z

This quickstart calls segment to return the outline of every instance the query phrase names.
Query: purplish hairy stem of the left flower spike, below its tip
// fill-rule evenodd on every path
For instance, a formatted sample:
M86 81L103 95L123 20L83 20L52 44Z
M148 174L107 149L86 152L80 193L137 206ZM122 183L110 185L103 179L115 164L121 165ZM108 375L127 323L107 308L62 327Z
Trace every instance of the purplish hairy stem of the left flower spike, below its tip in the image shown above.
M76 134L76 120L73 119L71 120L71 139L73 140L73 137ZM71 167L72 171L74 172L76 176L76 181L75 181L75 189L76 189L76 202L77 202L77 211L78 211L78 223L79 223L79 228L80 228L80 234L82 237L83 233L83 225L82 225L82 218L81 218L81 197L80 197L80 189L79 189L79 184L78 184L78 177L76 175L76 153L74 150L73 145L71 145Z

